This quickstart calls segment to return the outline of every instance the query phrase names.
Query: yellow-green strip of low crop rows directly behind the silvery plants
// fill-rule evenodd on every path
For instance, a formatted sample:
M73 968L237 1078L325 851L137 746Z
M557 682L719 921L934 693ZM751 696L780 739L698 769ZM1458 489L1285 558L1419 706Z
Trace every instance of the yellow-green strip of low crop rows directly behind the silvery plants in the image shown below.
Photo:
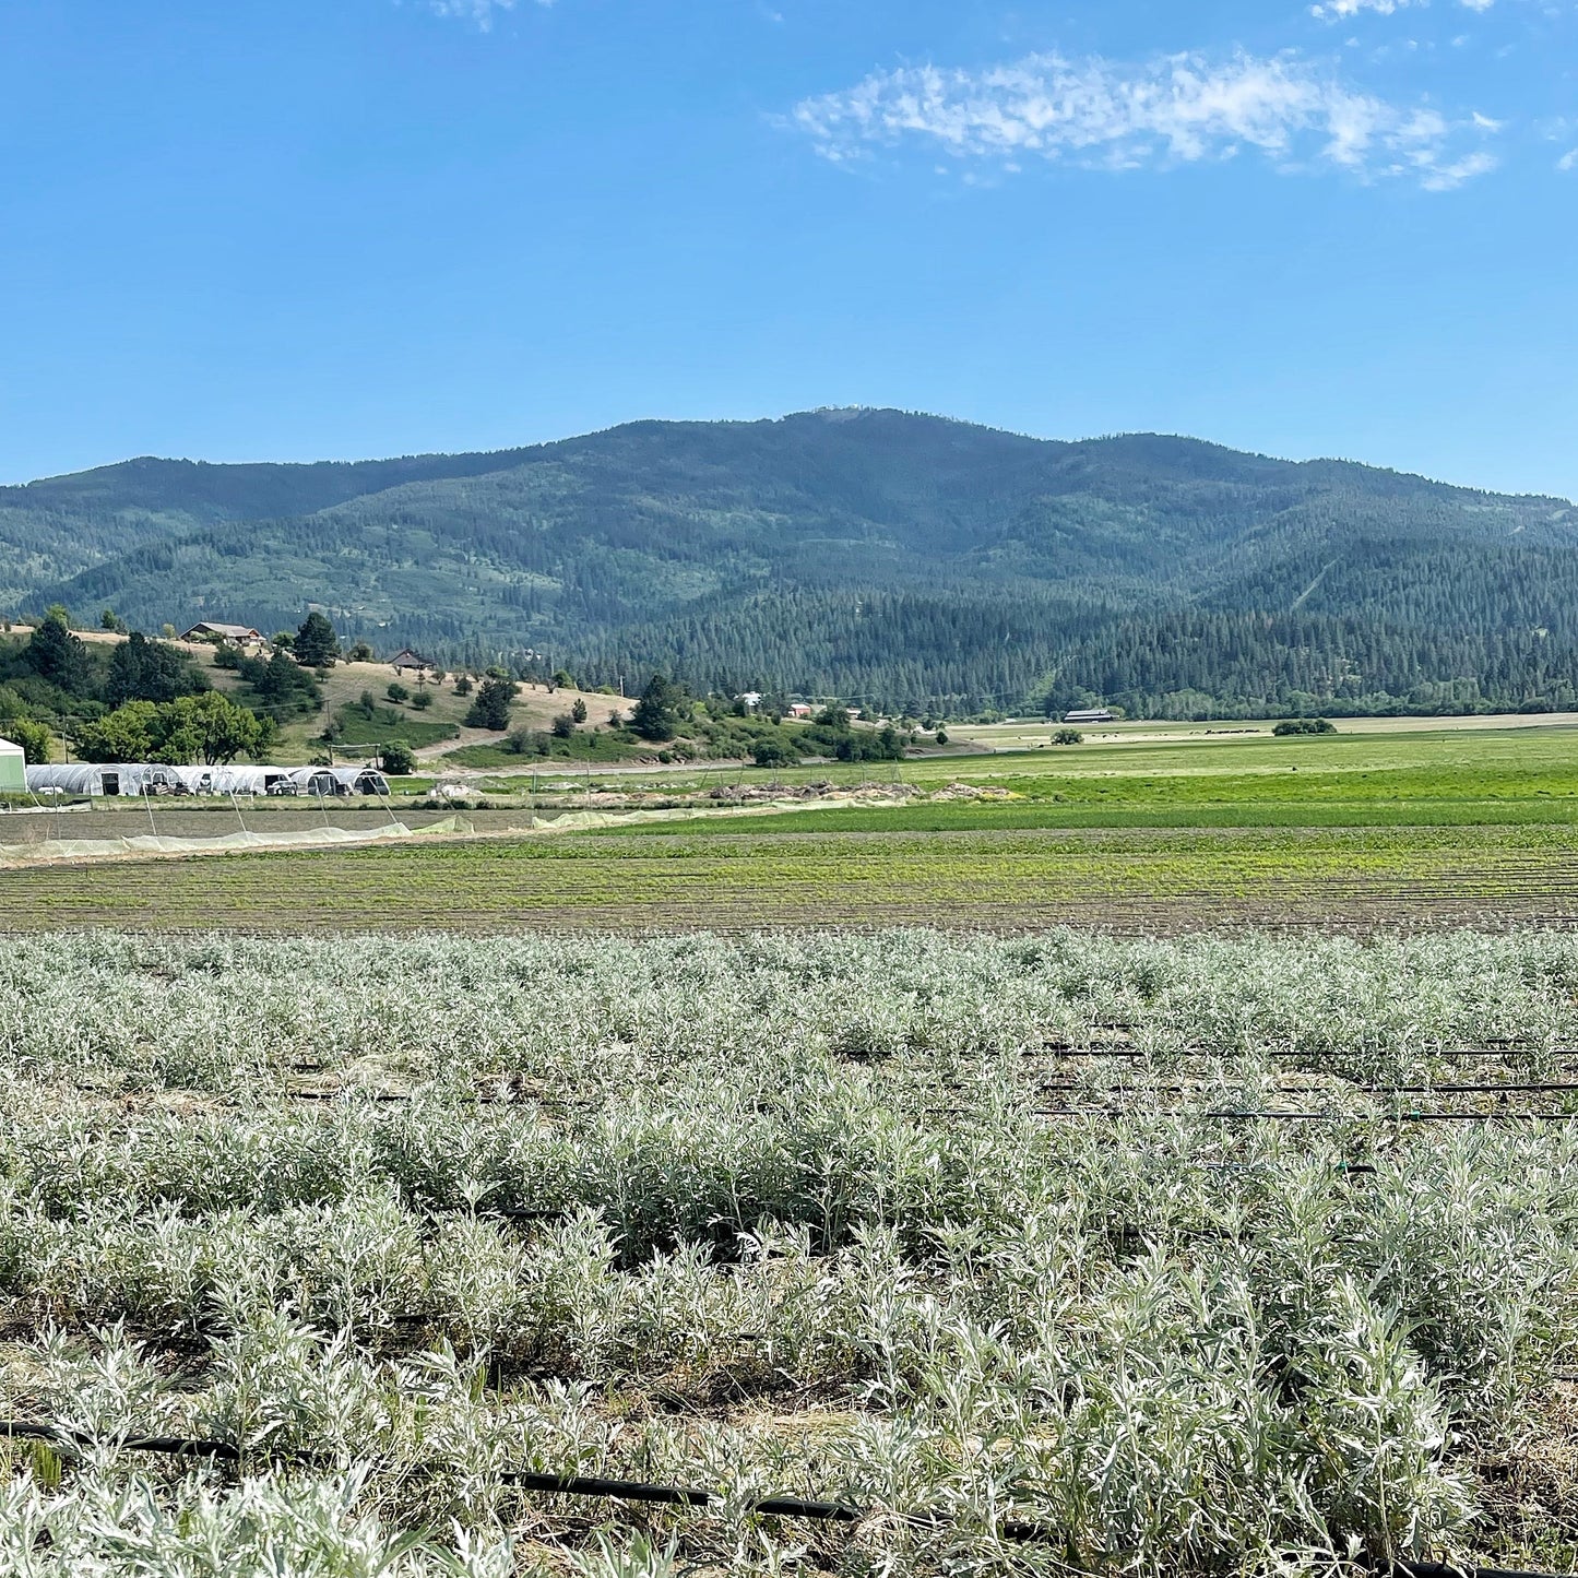
M835 814L835 813L822 813ZM13 928L1578 922L1578 828L571 835L0 873Z

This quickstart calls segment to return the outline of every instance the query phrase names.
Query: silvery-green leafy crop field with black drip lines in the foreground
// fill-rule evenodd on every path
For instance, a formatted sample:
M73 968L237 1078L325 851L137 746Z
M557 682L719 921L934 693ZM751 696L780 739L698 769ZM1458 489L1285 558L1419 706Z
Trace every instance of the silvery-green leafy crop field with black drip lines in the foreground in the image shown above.
M1553 933L13 939L0 1572L1572 1572L1575 1048Z

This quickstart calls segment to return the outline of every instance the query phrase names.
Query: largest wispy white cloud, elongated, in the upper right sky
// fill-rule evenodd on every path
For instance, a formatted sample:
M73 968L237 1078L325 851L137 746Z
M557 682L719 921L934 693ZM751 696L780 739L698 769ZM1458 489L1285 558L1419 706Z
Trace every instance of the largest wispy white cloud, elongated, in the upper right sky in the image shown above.
M805 99L792 118L835 161L923 142L956 159L1136 169L1250 148L1286 170L1412 177L1431 191L1496 164L1480 147L1490 126L1356 92L1292 55L1190 54L1124 66L1043 54L980 71L906 66Z

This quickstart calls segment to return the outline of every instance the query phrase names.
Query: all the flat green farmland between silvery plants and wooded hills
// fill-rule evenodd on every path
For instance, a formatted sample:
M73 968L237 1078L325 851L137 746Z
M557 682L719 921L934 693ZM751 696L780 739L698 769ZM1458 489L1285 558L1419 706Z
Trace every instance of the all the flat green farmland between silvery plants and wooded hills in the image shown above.
M510 838L576 806L731 806L811 780L888 805ZM884 784L887 787L884 787ZM491 781L475 841L0 873L0 925L609 931L1420 928L1578 920L1578 731L1125 743L866 768ZM537 789L537 794L521 792ZM606 791L593 794L590 791ZM899 794L903 792L903 798ZM14 819L58 836L147 808ZM159 803L202 835L227 805ZM259 805L347 825L388 810ZM401 811L413 825L440 811ZM9 833L11 819L6 832ZM36 832L36 828L35 828ZM47 836L47 835L44 835ZM22 835L16 839L22 841Z

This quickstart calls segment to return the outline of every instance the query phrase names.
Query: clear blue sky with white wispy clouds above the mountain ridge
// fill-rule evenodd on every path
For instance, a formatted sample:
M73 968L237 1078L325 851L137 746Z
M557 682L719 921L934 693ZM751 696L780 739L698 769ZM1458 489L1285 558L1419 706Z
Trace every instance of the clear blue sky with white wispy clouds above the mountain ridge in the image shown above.
M0 480L869 404L1578 495L1578 0L6 0Z

